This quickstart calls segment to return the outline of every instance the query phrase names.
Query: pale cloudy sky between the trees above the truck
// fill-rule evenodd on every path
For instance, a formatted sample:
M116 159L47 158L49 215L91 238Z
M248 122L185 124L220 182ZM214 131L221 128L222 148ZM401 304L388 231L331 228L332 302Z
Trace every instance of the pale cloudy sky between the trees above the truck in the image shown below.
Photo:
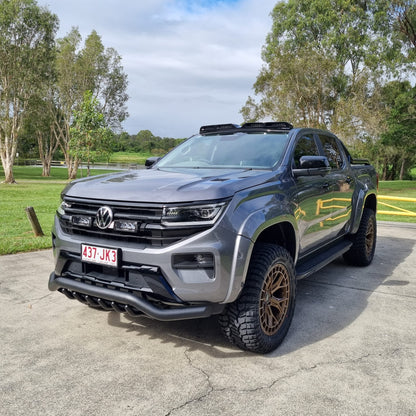
M122 58L129 117L123 130L189 137L205 124L241 123L263 61L277 0L38 0L57 37L96 30Z

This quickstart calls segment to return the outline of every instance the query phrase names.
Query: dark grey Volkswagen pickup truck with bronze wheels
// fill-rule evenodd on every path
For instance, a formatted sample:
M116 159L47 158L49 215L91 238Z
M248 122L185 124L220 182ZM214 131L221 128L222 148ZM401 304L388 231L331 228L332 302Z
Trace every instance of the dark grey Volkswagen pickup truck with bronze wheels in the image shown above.
M285 122L203 126L149 169L62 192L49 289L159 320L218 314L267 353L285 337L296 279L376 245L374 168L328 131Z

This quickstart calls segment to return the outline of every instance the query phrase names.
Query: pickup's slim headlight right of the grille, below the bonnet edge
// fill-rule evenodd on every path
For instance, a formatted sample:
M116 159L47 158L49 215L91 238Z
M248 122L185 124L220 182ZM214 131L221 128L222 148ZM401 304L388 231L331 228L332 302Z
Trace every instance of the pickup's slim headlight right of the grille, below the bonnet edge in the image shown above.
M226 206L225 202L207 205L164 207L162 224L172 225L211 225L219 218Z

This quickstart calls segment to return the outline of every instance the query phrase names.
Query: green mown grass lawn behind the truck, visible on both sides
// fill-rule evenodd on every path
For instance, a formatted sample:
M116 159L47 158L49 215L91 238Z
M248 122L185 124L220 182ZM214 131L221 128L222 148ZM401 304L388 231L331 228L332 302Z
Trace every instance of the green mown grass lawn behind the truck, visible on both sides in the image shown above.
M92 174L108 173L108 170L93 169ZM50 178L41 177L40 167L16 166L14 175L17 184L0 184L0 254L12 254L51 247L50 231L55 210L60 202L60 193L67 181L67 170L52 168ZM86 176L86 170L79 172ZM4 180L0 169L0 182ZM416 181L380 182L379 193L391 196L416 198ZM391 205L416 212L416 203L389 202ZM34 237L25 208L32 206L38 216L44 237ZM384 209L384 208L383 208ZM416 217L394 217L378 215L382 221L416 222Z

